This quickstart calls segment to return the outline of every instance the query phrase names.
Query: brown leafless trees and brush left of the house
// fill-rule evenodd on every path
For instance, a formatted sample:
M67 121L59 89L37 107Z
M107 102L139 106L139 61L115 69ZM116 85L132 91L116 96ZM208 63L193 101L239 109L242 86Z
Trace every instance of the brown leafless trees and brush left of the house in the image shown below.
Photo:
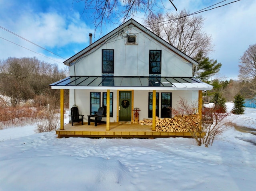
M68 68L60 70L56 64L40 61L36 57L9 57L0 60L0 94L8 96L12 106L33 100L30 104L50 104L56 108L59 106L60 91L52 90L49 85L67 76ZM68 105L68 91L65 94ZM0 106L4 104L2 101Z

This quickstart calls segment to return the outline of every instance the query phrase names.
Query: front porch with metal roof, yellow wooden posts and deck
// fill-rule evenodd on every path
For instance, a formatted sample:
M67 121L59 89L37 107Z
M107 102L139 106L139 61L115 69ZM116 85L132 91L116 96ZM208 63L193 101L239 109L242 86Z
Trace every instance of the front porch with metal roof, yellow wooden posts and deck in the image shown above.
M95 138L167 138L167 137L191 137L189 132L157 132L156 131L156 108L162 108L158 103L156 91L169 94L168 106L172 106L172 102L178 103L180 94L192 98L198 96L198 113L202 117L202 91L211 90L212 86L189 77L114 77L114 76L70 76L66 79L58 81L50 85L52 89L60 89L60 129L56 130L58 138L62 137L95 137ZM98 107L106 106L106 124L98 126L74 125L67 124L64 126L64 89L72 90L70 98L72 104L78 105L80 113L85 116L92 111L91 106L84 107L84 103L90 104L91 91L97 91ZM104 92L106 91L106 92ZM110 91L112 91L110 94ZM174 92L174 100L172 94ZM186 93L186 91L189 91ZM198 91L198 95L196 95ZM101 94L106 93L105 100L101 99ZM129 94L122 94L129 93ZM152 93L151 101L149 101L149 93ZM110 96L111 95L111 96ZM102 96L103 97L103 96ZM111 98L111 99L110 99ZM146 99L145 99L146 98ZM122 105L122 100L128 101L128 108ZM103 103L104 102L104 103ZM111 104L110 104L111 102ZM143 108L142 113L148 114L149 103L151 102L152 125L143 126L140 124L119 124L120 121L134 121L134 108ZM102 103L102 104L101 104ZM162 101L161 101L162 103ZM112 106L110 108L110 105ZM86 109L87 108L87 109ZM122 113L121 111L126 111ZM110 111L112 116L110 118ZM162 111L162 110L161 110ZM160 112L161 112L160 111ZM168 112L168 110L166 110ZM164 113L164 116L167 115ZM122 118L120 117L122 116ZM123 117L126 118L123 118ZM140 116L140 118L145 118ZM169 115L168 115L169 116ZM86 121L86 119L85 119ZM118 123L114 123L116 121Z

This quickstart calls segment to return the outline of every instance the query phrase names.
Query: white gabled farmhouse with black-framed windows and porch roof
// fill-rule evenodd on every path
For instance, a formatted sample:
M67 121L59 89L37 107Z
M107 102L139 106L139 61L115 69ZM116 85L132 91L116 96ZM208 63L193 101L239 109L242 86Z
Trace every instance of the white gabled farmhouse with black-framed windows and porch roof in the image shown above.
M202 103L202 91L212 90L192 78L196 61L133 19L64 64L70 67L70 77L51 84L52 89L60 89L61 96L70 90L70 108L76 105L84 122L98 108L106 108L106 131L111 122L133 123L134 108L140 110L140 120L153 119L154 131L155 117L172 117L171 108L180 98Z

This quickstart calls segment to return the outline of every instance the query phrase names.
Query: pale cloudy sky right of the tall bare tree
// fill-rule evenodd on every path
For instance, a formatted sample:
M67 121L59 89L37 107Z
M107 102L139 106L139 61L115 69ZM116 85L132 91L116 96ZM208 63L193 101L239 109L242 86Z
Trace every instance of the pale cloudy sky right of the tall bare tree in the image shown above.
M169 0L166 0L166 5L168 5L168 2ZM220 1L173 1L178 12L185 8L190 13L202 10L218 2ZM227 0L216 6L230 2L233 2L233 0ZM170 6L168 7L171 8ZM212 36L212 42L215 45L215 51L209 57L217 59L218 62L222 63L220 75L233 79L237 78L240 56L242 56L249 45L256 43L255 10L255 0L240 0L196 15L202 15L203 18L206 18L203 30ZM176 12L174 9L171 11Z

